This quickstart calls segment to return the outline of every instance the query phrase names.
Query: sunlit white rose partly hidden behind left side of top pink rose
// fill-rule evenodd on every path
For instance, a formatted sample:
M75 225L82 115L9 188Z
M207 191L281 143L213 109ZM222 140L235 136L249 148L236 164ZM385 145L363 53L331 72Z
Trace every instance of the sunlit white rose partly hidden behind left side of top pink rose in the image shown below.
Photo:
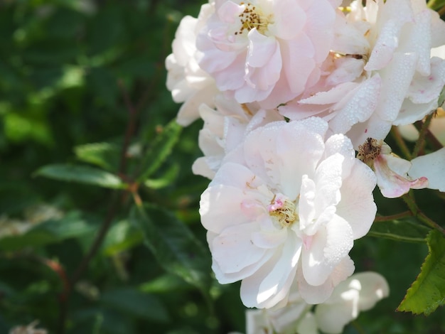
M213 97L218 93L215 81L199 67L195 58L197 31L213 10L213 4L204 4L198 18L182 18L171 45L173 53L166 58L167 88L173 101L184 102L177 118L182 126L188 126L199 118L201 103L213 107Z

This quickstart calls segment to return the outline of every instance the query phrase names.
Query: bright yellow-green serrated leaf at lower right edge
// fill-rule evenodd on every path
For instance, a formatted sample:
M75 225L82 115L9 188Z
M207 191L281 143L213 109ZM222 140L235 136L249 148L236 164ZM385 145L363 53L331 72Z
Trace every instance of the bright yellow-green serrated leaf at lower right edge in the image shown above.
M428 316L445 303L445 238L436 231L427 237L429 253L420 274L408 289L397 311Z

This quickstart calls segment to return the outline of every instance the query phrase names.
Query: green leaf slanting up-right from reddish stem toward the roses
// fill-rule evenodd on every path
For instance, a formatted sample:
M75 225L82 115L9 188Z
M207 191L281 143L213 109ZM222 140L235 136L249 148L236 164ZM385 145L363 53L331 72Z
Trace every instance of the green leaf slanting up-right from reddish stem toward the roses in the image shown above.
M141 165L141 175L138 178L139 182L149 178L161 167L162 163L166 161L173 146L179 139L181 130L182 126L176 123L176 119L173 119L162 129L158 136L156 136L144 155Z

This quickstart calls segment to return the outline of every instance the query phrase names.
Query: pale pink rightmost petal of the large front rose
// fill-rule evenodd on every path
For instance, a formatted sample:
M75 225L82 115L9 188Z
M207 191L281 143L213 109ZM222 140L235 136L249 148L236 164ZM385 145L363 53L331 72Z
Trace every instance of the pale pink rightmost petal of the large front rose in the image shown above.
M375 183L375 174L371 168L360 161L355 161L350 175L343 180L336 214L348 222L353 230L353 239L365 236L374 221L377 207L372 190Z

